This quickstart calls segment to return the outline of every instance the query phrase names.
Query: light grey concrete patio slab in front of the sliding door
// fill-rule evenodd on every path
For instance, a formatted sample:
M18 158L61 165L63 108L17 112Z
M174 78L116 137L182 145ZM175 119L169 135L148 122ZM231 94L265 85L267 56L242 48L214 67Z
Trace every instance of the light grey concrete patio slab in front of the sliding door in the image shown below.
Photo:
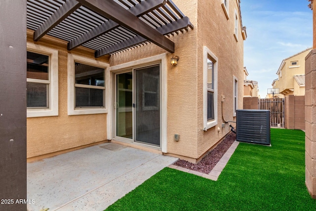
M29 163L28 211L103 211L176 160L105 143Z

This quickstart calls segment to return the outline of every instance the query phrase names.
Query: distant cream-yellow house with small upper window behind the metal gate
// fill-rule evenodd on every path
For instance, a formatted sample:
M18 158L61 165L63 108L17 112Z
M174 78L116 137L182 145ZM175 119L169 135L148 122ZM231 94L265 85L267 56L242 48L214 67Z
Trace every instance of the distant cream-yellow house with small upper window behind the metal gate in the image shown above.
M276 75L280 94L305 95L305 57L312 48L303 50L293 56L283 59Z

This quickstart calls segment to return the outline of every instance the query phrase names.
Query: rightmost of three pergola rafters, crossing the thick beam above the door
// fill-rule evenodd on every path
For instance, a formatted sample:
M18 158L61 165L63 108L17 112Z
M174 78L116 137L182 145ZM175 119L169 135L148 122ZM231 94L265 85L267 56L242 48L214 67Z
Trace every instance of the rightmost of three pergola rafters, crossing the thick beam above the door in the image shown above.
M176 20L172 23L168 23L166 25L158 27L156 30L161 34L166 35L166 34L181 30L181 29L185 29L185 28L190 27L190 26L192 26L192 24L190 23L189 18L184 17L184 18ZM147 40L145 38L142 38L141 36L136 36L136 37L133 37L133 38L128 39L126 41L119 42L118 44L100 49L98 51L95 51L95 57L97 58L97 57L100 57L100 56L103 56L103 55L106 55L109 53L113 53L113 52L118 51L120 49L131 47L133 45L136 45L136 44L139 44L142 42L146 42L146 41Z

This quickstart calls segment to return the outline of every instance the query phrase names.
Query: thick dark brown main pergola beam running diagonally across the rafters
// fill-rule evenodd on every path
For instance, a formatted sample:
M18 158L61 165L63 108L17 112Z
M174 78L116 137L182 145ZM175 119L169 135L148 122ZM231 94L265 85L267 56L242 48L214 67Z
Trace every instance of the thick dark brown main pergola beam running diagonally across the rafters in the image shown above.
M146 40L173 53L174 42L140 20L137 16L121 7L113 0L78 0L81 4L113 20L119 25L131 30Z

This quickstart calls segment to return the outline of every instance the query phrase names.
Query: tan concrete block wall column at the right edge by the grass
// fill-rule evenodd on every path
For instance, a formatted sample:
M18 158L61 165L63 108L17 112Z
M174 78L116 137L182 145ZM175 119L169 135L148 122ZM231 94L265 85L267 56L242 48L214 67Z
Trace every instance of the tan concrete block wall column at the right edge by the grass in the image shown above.
M316 199L316 49L305 60L305 183Z

